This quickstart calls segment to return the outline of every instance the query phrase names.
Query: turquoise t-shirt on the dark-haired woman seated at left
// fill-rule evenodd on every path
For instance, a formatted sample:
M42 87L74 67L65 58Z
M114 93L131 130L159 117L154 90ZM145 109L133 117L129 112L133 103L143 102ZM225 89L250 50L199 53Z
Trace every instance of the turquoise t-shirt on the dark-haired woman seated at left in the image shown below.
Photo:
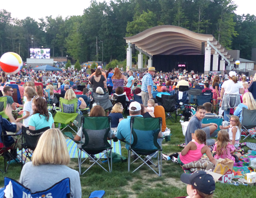
M46 116L39 115L39 113L33 114L28 121L28 126L34 126L35 130L42 129L46 126L49 126L50 129L52 128L52 124L54 123L54 120L52 118L52 114L49 113L49 120L47 122Z

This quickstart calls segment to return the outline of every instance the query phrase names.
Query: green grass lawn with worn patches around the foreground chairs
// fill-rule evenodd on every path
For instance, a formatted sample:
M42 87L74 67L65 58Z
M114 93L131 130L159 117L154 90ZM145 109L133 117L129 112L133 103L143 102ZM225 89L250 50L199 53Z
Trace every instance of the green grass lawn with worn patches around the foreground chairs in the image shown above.
M178 120L180 118L178 117ZM167 127L170 128L173 134L170 142L163 140L163 153L171 154L173 152L181 151L182 148L175 146L176 144L184 143L184 136L182 135L181 124L172 123L167 120ZM246 139L249 142L255 142L252 138ZM127 150L122 143L122 155L127 157ZM246 150L248 150L247 147ZM0 168L3 169L3 158L0 159ZM105 197L178 197L186 196L186 185L180 181L180 175L184 173L179 164L174 164L170 161L162 161L162 177L158 177L149 170L145 165L135 173L127 172L127 162L114 163L113 172L106 173L99 166L94 166L86 174L82 175L82 197L88 197L94 190L105 190ZM139 163L131 166L134 170ZM84 165L84 168L89 165L89 162ZM72 159L69 167L78 170L77 159ZM107 164L105 164L107 168ZM85 170L82 167L82 170ZM21 164L11 164L8 173L0 173L0 186L3 187L4 177L11 177L19 181L21 172ZM233 186L229 184L216 183L217 197L256 197L255 187Z

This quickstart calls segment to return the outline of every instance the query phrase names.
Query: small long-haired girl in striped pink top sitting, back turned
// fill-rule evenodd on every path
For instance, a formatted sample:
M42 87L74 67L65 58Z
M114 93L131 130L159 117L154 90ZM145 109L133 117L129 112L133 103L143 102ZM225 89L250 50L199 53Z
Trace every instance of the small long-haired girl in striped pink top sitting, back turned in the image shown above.
M241 154L232 155L236 152L236 148L233 144L230 144L229 135L226 130L220 130L218 132L217 142L214 145L213 152L216 154L214 156L215 159L229 158L235 162L239 162L239 158L242 156Z

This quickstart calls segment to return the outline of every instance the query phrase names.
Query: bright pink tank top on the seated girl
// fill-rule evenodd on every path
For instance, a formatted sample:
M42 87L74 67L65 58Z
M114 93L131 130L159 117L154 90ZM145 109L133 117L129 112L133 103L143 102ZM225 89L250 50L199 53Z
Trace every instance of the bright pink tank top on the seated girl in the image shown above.
M196 150L189 150L187 154L184 156L182 156L181 154L179 155L180 161L184 164L187 164L193 161L198 161L198 159L200 159L200 157L203 156L201 149L204 147L204 144L198 144L196 141L194 141L193 143L197 145Z

